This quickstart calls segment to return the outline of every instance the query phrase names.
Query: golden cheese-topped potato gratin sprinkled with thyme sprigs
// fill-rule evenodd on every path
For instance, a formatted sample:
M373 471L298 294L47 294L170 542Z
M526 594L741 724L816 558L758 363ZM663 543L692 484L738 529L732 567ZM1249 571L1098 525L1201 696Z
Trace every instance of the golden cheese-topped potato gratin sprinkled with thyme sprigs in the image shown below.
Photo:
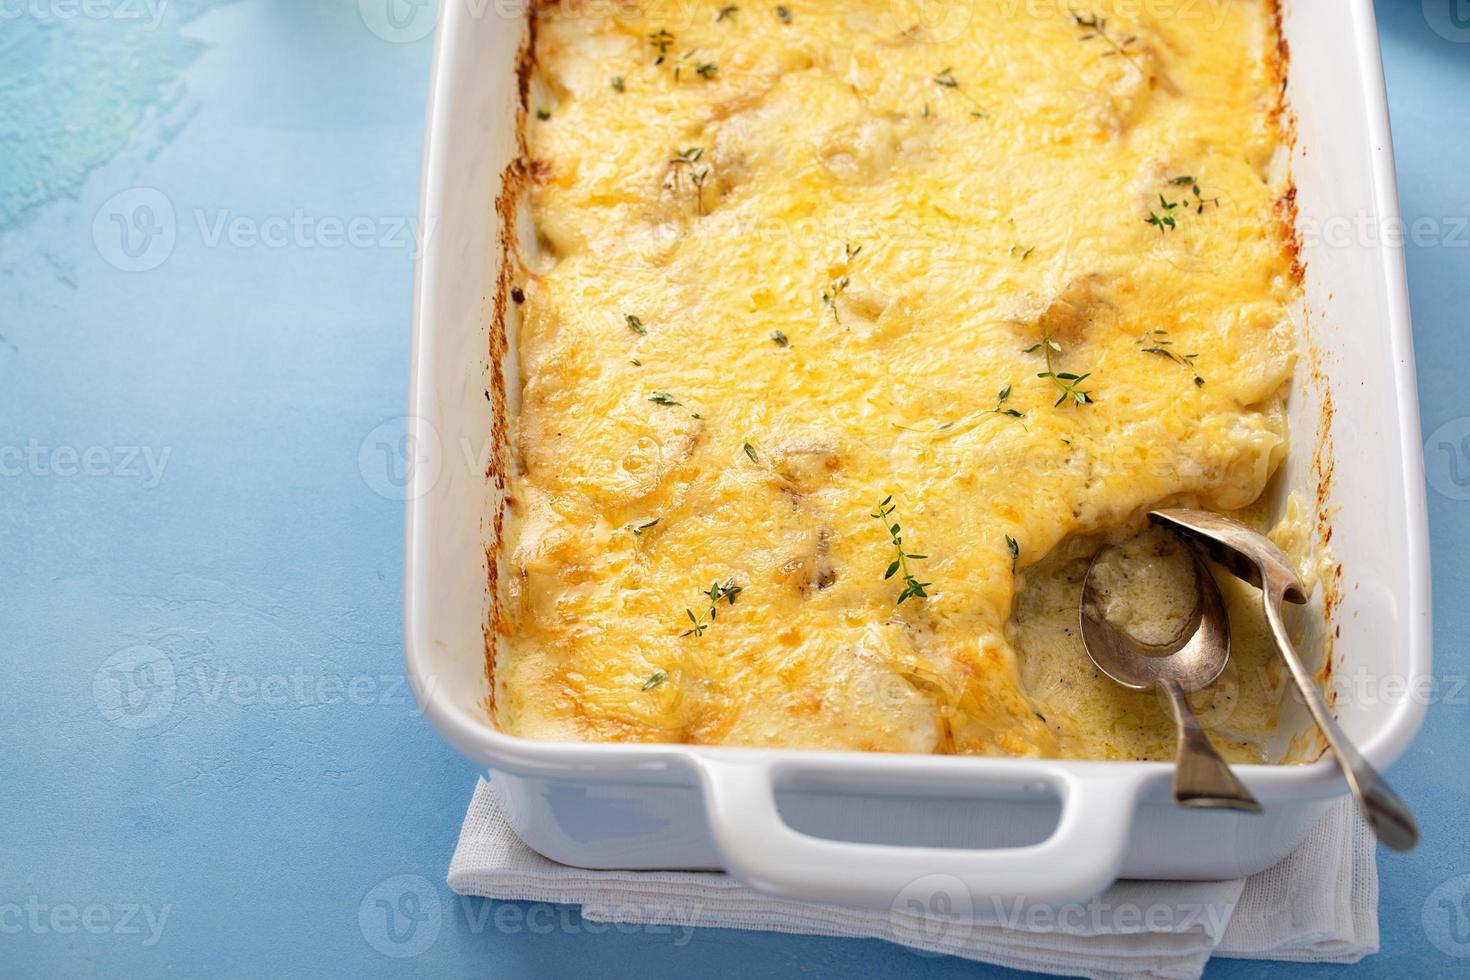
M1261 508L1285 454L1274 4L532 18L497 724L1172 758L1078 592L1151 507ZM1192 701L1261 761L1280 673L1222 585L1235 657Z

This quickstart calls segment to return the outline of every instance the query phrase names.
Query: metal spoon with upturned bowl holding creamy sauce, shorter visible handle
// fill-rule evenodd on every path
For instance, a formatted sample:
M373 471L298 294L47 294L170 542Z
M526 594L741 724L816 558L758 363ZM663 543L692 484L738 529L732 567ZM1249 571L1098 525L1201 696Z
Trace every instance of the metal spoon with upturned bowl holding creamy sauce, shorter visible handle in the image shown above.
M1104 551L1107 551L1104 548ZM1230 658L1230 623L1220 588L1194 548L1195 605L1189 621L1169 644L1142 644L1107 620L1101 589L1094 585L1100 551L1082 582L1082 645L1098 670L1133 691L1163 688L1179 730L1175 802L1180 807L1226 807L1260 813L1251 790L1225 764L1189 710L1185 695L1213 683Z

